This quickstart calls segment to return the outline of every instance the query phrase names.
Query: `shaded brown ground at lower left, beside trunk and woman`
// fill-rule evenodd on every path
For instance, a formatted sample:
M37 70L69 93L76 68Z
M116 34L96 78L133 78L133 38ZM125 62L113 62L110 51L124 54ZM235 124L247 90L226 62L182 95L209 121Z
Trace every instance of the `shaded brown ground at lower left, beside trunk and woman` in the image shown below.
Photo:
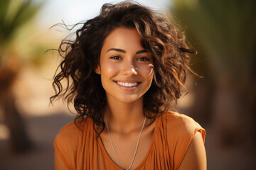
M25 118L33 149L23 154L15 154L9 148L8 140L0 140L0 169L54 169L53 141L60 128L73 121L73 116L56 113L47 116Z

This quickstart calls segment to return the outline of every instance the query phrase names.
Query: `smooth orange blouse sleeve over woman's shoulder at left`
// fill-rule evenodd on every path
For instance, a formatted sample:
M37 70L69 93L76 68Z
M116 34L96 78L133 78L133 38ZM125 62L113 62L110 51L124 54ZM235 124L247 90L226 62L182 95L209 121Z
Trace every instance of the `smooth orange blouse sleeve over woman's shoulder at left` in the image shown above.
M76 169L79 130L74 123L65 125L55 137L54 147L68 169Z

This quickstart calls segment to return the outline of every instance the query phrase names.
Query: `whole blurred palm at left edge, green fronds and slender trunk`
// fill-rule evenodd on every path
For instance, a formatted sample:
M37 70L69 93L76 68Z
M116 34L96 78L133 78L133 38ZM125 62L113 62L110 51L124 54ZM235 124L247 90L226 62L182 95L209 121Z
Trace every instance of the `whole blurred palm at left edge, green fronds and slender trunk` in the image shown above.
M41 5L35 5L31 0L1 0L0 2L0 109L4 113L4 123L9 128L14 151L31 148L31 140L16 108L12 90L24 60L28 60L23 52L26 49L21 48L26 40L18 40L18 37L31 31L29 21L36 16ZM34 47L27 47L27 49L31 50ZM35 55L37 50L32 51L34 52L31 52L31 56L38 57Z

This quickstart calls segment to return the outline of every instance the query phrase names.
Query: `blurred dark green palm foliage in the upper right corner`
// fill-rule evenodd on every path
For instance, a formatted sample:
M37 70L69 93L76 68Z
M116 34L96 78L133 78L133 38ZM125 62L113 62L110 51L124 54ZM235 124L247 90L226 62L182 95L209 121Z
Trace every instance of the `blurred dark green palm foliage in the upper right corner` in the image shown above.
M255 0L172 0L173 12L218 74L252 72ZM200 54L200 51L199 51Z

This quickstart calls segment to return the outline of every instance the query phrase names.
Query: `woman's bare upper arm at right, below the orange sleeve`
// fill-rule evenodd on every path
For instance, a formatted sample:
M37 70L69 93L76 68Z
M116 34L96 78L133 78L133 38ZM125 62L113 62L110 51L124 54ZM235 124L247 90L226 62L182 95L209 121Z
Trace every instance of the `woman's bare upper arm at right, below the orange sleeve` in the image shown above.
M206 149L200 132L191 140L178 170L206 170Z

